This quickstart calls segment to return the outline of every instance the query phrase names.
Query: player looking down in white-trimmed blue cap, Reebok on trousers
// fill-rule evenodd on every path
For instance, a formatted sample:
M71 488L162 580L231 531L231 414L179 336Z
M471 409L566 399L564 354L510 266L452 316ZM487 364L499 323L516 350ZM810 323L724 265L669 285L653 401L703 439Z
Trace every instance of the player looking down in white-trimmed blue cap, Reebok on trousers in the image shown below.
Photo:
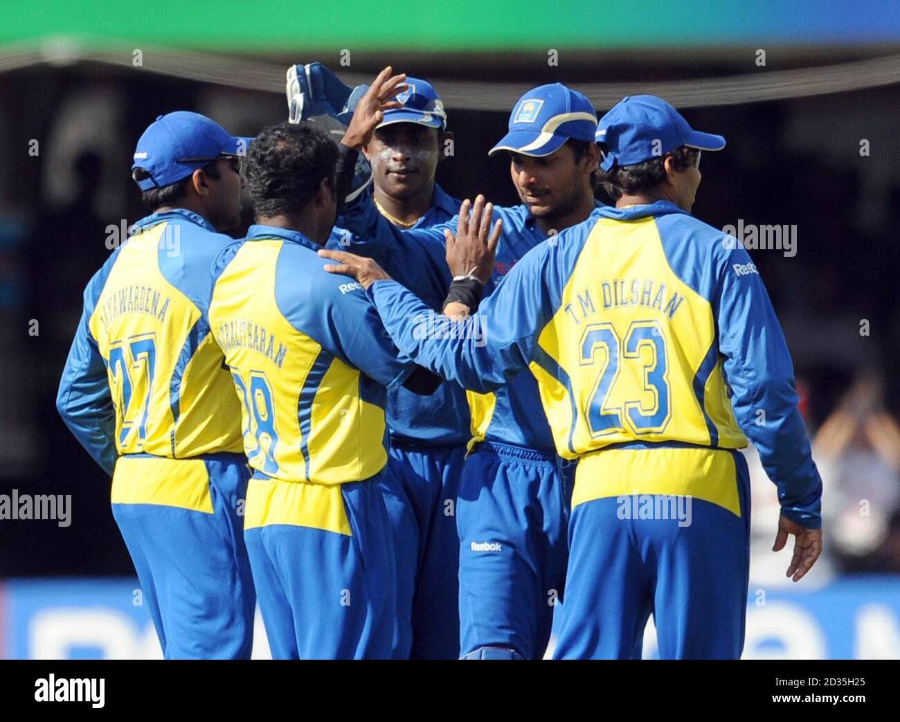
M497 263L482 269L486 293L528 250L597 211L592 185L599 159L596 127L597 115L588 99L559 83L530 90L513 108L509 133L491 154L509 152L510 176L522 203L488 206L487 216L492 210L502 235ZM419 317L419 329L426 333L430 320L439 315L451 278L473 272L464 255L447 256L446 248L471 209L466 201L450 221L410 230L383 222L365 194L345 209L342 223L354 234L349 249L376 260L390 258L401 283L410 289L425 284L421 275L427 274L429 311ZM453 258L449 265L447 257ZM468 394L471 455L455 497L461 645L455 656L540 658L554 605L563 596L568 491L536 378L523 374L484 391L489 393ZM445 506L437 510L438 516L446 515L450 493L437 497ZM414 503L418 498L413 495ZM446 524L445 519L441 522ZM447 573L455 568L449 557L437 555L427 542L423 554L425 567L430 564L436 570L436 595L441 584L449 591ZM443 576L441 568L446 570ZM424 611L427 614L428 608ZM420 623L439 624L441 618L432 615ZM450 656L447 642L443 656Z

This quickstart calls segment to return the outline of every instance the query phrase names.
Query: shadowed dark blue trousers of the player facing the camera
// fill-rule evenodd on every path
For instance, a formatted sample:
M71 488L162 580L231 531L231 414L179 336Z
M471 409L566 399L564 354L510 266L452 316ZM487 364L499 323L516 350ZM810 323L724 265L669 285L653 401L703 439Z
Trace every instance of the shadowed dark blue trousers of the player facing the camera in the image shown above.
M382 478L397 559L395 658L459 657L456 492L465 447L392 440Z

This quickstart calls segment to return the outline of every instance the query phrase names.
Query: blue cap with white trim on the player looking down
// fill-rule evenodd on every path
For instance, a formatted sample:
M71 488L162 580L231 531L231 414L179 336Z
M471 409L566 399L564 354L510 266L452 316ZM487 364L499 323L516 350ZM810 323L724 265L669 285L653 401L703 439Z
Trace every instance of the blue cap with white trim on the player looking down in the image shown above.
M594 141L597 113L584 95L562 83L532 88L509 114L509 132L488 151L549 156L566 140Z

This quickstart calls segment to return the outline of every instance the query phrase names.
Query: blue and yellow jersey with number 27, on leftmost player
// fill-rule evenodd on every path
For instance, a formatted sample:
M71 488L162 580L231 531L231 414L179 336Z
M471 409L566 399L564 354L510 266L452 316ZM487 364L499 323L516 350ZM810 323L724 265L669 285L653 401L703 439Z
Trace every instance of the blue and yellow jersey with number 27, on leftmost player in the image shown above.
M241 451L238 403L206 318L211 262L233 242L196 213L154 213L87 284L57 407L109 474L125 454Z

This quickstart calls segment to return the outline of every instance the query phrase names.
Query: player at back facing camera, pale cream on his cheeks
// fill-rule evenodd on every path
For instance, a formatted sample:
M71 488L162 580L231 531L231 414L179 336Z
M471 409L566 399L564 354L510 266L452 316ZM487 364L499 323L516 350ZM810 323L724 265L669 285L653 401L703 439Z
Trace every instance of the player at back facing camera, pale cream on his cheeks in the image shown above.
M299 68L304 66L295 66L295 76L312 77L310 86L334 88L340 82L317 64ZM316 82L315 74L327 82ZM443 149L452 139L444 104L426 80L407 77L404 85L397 95L400 106L384 112L361 149L373 183L359 205L368 213L367 227L380 226L383 236L392 235L390 227L432 228L453 218L460 205L435 182ZM349 88L340 94L336 90L329 95L338 100L331 103L339 105L339 98L349 93ZM442 244L417 246L417 255L409 257L393 244L372 242L371 237L361 241L336 229L327 248L371 253L392 277L436 309L452 280ZM421 396L400 386L388 393L387 420L391 445L381 484L397 555L400 627L395 656L456 659L459 537L454 507L470 438L465 391L458 384L441 384L435 393Z

